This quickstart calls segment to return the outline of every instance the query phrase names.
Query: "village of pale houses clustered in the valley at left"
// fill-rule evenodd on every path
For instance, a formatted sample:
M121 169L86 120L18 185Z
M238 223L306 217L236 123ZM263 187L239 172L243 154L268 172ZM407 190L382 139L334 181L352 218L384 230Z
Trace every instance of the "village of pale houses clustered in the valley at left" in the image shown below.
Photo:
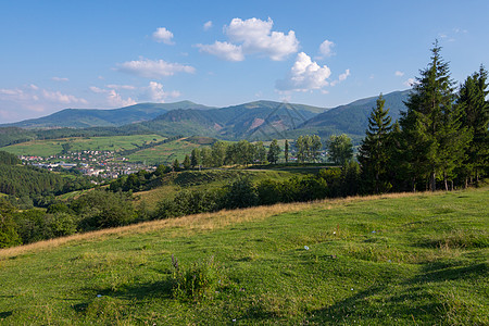
M140 170L152 172L155 166L130 163L127 158L118 158L114 151L84 150L50 156L20 155L24 165L33 165L49 171L77 170L86 176L115 179L122 175L137 173Z

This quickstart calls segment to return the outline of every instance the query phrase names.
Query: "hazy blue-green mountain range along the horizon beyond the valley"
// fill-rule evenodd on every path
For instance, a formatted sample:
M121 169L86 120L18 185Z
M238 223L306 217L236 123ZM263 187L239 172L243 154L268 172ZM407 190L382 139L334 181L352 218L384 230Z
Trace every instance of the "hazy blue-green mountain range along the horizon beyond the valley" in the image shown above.
M405 110L403 101L409 90L384 96L392 121ZM33 133L38 129L71 128L73 133L117 133L165 136L210 136L221 139L294 138L304 134L349 134L361 138L367 127L367 118L376 106L376 97L365 98L331 109L304 104L255 101L226 108L212 108L190 101L175 103L140 103L114 110L66 109L51 115L0 125L3 134ZM5 131L9 127L10 131ZM76 130L79 131L76 131ZM108 131L109 130L109 131ZM49 130L47 130L48 133ZM60 134L61 131L57 131ZM33 136L34 137L34 136ZM0 141L1 142L1 141Z

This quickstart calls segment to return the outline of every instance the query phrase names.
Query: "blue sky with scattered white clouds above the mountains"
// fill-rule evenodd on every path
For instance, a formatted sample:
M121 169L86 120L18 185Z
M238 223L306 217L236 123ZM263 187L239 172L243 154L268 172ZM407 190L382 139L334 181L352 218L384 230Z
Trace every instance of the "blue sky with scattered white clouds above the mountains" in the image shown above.
M409 89L436 39L489 65L489 1L0 2L0 124L67 108L256 100L334 108Z

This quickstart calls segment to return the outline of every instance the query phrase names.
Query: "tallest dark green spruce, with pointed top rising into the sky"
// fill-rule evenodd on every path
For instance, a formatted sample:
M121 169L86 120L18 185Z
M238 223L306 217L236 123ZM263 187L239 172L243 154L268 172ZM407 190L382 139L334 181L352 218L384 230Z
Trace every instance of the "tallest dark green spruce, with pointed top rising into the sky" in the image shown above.
M402 112L401 126L406 149L406 160L411 165L412 177L415 180L427 178L429 189L436 190L436 179L443 170L452 166L449 161L459 158L450 155L452 142L449 140L456 128L454 112L454 88L447 62L440 55L438 41L431 49L431 62L421 71L421 77L413 86ZM448 164L450 163L450 164Z

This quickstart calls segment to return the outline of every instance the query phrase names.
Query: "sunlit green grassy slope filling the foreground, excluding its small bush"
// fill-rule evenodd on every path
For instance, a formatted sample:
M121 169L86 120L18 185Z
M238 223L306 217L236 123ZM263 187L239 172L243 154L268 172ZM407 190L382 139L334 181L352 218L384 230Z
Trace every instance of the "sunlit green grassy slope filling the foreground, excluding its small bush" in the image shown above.
M487 325L488 198L279 204L2 250L0 322ZM181 266L213 256L216 291L174 299L172 254Z

